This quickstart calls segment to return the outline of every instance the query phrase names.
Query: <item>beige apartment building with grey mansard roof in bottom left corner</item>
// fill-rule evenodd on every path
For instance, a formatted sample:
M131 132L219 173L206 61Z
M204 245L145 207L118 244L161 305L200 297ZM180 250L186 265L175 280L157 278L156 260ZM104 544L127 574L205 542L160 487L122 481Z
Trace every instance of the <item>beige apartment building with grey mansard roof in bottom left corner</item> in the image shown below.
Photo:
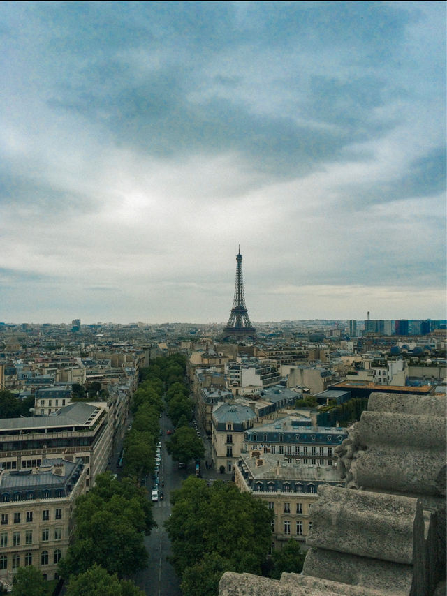
M0 473L0 584L10 590L19 567L57 579L73 531L75 498L85 493L81 458L45 459L29 470Z

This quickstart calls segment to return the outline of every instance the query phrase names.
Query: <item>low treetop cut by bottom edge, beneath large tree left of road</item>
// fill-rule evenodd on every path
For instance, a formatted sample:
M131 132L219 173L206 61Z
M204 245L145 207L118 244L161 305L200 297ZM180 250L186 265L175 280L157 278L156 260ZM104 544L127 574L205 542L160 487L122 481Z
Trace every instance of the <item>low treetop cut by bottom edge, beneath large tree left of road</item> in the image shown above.
M72 577L66 596L144 596L133 581L119 580L117 574L110 575L99 565L93 565L86 572Z

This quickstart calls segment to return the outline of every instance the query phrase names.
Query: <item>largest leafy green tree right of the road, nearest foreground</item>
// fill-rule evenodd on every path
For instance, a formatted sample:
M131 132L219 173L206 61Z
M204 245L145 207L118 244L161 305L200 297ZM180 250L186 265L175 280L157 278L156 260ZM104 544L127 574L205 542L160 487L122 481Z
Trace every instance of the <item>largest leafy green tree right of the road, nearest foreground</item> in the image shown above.
M234 484L189 477L171 502L172 514L165 522L171 540L170 558L182 578L184 596L211 596L223 572L261 574L270 548L272 512L251 493ZM212 556L210 556L212 553ZM202 577L210 578L205 586ZM184 583L183 583L184 582Z

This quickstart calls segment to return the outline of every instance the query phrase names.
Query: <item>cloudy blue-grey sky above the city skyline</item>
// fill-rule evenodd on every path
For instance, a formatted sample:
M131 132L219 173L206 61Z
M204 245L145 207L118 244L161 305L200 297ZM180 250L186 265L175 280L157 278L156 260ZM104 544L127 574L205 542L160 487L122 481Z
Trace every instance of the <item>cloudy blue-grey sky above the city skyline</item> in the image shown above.
M0 321L445 318L444 2L0 15Z

